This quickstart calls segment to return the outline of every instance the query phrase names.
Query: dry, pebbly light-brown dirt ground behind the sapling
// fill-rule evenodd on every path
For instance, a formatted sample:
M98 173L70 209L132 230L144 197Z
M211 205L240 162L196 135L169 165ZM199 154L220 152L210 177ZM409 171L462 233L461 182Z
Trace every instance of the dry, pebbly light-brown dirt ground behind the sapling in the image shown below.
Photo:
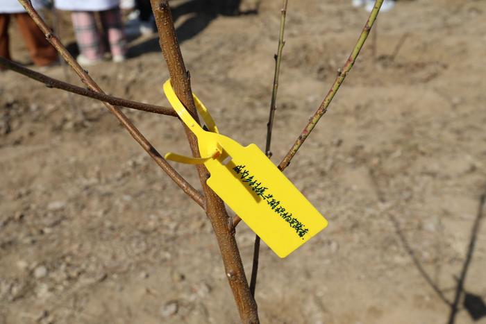
M177 19L194 92L222 134L260 148L280 4ZM274 162L366 19L347 0L290 1ZM285 171L329 226L286 259L262 247L262 323L486 323L485 35L486 1L399 1L380 15L376 57L369 40ZM157 37L132 40L131 55L90 74L110 94L167 104ZM8 71L0 106L0 323L239 322L206 216L103 105ZM160 153L189 153L177 119L127 114ZM236 235L249 275L254 235L243 223Z

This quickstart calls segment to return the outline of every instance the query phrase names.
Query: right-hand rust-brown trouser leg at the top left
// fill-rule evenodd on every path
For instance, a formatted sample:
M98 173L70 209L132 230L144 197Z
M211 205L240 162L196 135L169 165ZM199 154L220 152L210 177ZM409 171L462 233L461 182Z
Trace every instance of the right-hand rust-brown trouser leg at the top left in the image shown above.
M17 21L20 33L26 42L27 49L35 65L45 67L56 62L58 53L54 47L47 42L44 33L37 27L33 19L26 13L12 14Z

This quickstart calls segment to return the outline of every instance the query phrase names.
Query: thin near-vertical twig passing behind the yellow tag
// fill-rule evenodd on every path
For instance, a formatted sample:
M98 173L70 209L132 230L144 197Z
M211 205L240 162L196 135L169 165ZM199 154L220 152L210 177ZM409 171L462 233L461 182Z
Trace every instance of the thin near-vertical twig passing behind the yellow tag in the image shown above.
M285 18L287 17L287 3L288 0L283 0L281 15L280 15L280 33L278 35L278 49L275 54L275 72L274 72L274 86L271 92L270 114L267 123L267 143L265 144L265 154L271 157L271 130L274 128L275 111L277 110L277 92L278 92L278 76L280 75L280 62L282 61L282 51L285 45L283 39L285 34ZM256 278L258 275L258 260L260 257L260 237L255 235L255 244L253 245L253 265L251 267L250 291L251 296L255 296Z

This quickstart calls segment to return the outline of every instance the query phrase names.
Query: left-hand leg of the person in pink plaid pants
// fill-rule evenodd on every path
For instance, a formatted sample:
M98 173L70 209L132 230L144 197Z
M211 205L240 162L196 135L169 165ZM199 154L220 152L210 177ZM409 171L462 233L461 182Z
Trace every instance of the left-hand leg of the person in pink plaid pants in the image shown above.
M103 44L94 12L74 11L71 18L81 58L92 62L101 60L103 58Z

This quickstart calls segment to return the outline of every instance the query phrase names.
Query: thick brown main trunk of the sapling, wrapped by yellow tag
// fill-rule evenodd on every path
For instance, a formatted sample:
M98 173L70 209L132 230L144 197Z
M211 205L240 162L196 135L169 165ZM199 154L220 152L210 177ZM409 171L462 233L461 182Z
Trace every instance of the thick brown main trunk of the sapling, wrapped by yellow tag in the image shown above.
M185 69L169 2L167 0L151 0L151 5L153 14L156 17L156 24L160 36L160 47L167 62L167 67L169 68L174 91L185 105L185 108L199 122L194 99L192 98L190 74ZM199 157L196 137L187 127L185 127L185 131L192 149L192 154L194 157ZM226 212L224 202L206 184L206 180L210 176L206 167L201 165L197 170L206 198L206 214L215 231L226 277L233 291L242 323L260 323L258 320L257 305L253 296L251 296L248 282L246 281L240 250L238 250L235 236L232 234L233 226L231 225L231 219L229 219L228 213Z

